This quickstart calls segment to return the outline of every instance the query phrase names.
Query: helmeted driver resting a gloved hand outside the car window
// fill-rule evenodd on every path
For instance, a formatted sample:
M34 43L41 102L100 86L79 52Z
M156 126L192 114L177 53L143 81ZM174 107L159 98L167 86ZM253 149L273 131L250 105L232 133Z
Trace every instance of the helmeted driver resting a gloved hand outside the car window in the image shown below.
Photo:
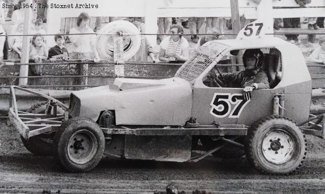
M236 88L244 88L243 96L245 100L251 98L252 90L270 88L267 74L261 68L263 64L263 52L259 49L247 49L243 55L245 69L232 73L219 73L217 76L211 75L218 84L228 86L232 84Z

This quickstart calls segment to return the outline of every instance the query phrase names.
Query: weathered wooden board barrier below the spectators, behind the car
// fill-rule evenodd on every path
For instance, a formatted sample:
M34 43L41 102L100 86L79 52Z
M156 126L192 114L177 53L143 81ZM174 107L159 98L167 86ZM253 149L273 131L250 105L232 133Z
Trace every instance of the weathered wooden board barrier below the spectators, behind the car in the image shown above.
M222 67L222 71L224 72L243 68L242 64L231 64L233 61L231 59L223 60L223 64L218 64L218 66ZM94 62L91 60L69 60L58 63L17 62L17 60L15 62L12 60L3 60L2 63L5 65L0 68L0 83L2 84L0 88L18 85L18 79L27 78L28 85L21 87L79 90L112 84L115 77L118 77L114 72L114 66L116 64L108 61ZM83 72L83 75L80 75L80 68L78 68L78 65L82 66L84 64L88 64L88 70L87 72ZM19 76L19 66L21 65L43 65L43 75ZM138 79L169 78L174 76L181 65L182 64L175 63L127 62L123 64L125 71L123 77ZM312 88L323 88L325 80L324 65L307 63L307 67L313 81ZM87 80L83 80L83 78L87 78ZM87 82L85 83L85 81Z

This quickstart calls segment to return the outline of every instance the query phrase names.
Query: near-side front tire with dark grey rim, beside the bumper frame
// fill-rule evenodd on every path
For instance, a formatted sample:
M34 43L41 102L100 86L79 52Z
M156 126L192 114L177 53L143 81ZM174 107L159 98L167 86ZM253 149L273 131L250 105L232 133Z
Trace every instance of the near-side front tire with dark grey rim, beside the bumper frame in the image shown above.
M102 129L87 118L64 122L53 141L53 156L69 172L87 172L103 157L105 139Z

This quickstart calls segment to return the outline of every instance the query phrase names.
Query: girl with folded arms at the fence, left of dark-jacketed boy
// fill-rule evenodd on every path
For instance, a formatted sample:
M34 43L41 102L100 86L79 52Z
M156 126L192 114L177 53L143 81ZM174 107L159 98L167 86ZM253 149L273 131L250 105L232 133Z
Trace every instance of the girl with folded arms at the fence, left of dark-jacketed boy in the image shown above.
M32 37L29 49L29 61L34 63L41 63L42 60L47 59L48 48L44 43L42 34L35 34ZM42 75L42 65L30 65L30 71L36 75Z

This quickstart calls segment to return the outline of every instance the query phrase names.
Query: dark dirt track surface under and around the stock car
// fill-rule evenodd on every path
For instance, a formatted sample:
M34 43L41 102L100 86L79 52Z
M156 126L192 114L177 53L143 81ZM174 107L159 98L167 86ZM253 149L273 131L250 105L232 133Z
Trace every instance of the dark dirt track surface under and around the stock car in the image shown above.
M37 157L18 133L0 123L0 193L153 193L169 183L191 193L323 193L325 141L308 137L308 158L294 175L262 175L245 158L198 163L126 161L104 158L88 173L66 173L52 157ZM324 178L324 179L323 179Z

